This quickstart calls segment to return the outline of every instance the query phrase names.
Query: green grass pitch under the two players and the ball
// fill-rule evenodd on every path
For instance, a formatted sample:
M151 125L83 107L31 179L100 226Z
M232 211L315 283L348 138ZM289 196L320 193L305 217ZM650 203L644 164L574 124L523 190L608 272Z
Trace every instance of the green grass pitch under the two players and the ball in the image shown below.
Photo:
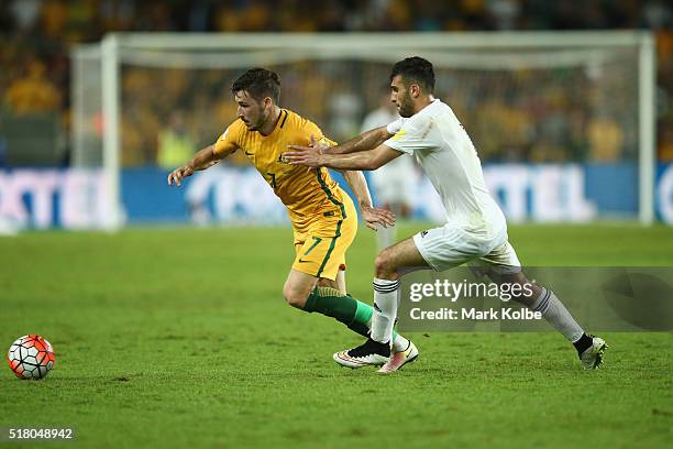
M41 333L56 351L43 381L0 370L0 427L75 427L64 447L673 447L672 333L602 335L596 372L552 332L415 333L421 358L395 375L340 369L332 352L361 338L284 304L290 238L0 238L0 347ZM529 265L673 266L671 228L512 227L510 240ZM363 228L349 285L366 302L374 252Z

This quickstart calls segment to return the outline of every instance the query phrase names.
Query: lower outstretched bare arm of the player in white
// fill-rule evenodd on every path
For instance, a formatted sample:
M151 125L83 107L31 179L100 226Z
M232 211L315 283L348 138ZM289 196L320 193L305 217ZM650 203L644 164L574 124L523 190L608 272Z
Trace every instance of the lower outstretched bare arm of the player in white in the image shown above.
M335 169L376 169L401 155L401 152L380 144L374 150L351 154L324 152L321 144L313 146L289 145L294 151L284 154L285 161L293 165L308 167L330 167Z

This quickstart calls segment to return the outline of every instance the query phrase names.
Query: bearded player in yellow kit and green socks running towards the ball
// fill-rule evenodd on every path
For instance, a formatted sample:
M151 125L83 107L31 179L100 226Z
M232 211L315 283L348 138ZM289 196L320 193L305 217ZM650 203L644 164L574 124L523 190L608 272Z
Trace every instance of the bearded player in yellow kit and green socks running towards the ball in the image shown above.
M234 81L231 91L238 103L238 120L214 144L173 171L168 185L179 186L195 171L206 169L235 151L244 152L287 207L293 223L296 258L283 287L287 303L333 317L367 337L374 310L347 295L345 288L345 252L357 231L353 201L326 168L307 171L283 158L289 144L334 142L315 123L278 107L280 80L274 72L250 69ZM342 173L357 197L366 225L372 229L393 226L390 211L372 207L363 174ZM394 352L416 354L411 348L416 349L409 340L394 336Z

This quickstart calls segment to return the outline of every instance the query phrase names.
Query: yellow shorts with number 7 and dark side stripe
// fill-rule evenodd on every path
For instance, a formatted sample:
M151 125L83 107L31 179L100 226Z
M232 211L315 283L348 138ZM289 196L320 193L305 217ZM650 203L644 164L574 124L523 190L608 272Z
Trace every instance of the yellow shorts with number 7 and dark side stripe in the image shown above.
M294 270L331 281L336 280L339 270L345 270L345 253L357 232L357 212L347 195L343 206L345 218L321 217L305 232L295 230Z

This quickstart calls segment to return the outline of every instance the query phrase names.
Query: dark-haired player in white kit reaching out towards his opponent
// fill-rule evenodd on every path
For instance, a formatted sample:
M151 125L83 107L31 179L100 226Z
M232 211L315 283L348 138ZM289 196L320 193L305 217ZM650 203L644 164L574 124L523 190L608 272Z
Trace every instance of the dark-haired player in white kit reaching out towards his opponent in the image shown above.
M368 131L342 145L291 146L291 164L338 169L376 169L407 153L416 157L439 193L446 210L441 228L417 233L382 251L375 261L374 317L365 343L334 354L345 366L383 365L382 373L398 370L418 357L407 351L390 355L390 336L397 317L400 269L430 266L443 271L464 263L481 265L497 283L518 283L532 288L518 300L540 311L570 340L585 369L595 369L607 348L598 337L588 336L556 295L530 284L507 240L503 211L492 198L476 150L449 106L432 96L434 70L430 62L415 56L398 62L390 75L391 101L401 118L387 127Z

